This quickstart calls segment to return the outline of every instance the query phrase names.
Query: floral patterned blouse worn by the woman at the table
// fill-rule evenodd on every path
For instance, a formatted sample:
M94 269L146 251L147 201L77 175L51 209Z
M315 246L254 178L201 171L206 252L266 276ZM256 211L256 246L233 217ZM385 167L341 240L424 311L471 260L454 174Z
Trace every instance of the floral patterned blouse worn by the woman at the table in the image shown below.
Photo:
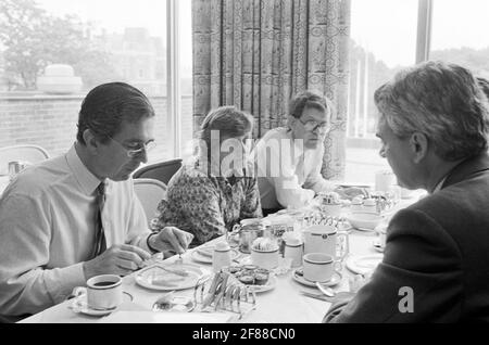
M177 227L195 235L191 247L231 230L244 218L262 217L255 177L213 177L199 161L184 165L168 182L166 200L151 221L154 231Z

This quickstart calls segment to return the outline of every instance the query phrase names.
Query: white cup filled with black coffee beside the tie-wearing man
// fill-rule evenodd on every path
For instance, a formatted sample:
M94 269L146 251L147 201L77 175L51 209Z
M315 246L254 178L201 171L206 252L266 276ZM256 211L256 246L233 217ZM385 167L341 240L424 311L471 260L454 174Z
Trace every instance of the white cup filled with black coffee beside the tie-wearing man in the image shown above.
M87 288L77 286L73 295L87 295L87 306L95 310L115 309L123 299L122 278L115 274L96 276L87 280Z

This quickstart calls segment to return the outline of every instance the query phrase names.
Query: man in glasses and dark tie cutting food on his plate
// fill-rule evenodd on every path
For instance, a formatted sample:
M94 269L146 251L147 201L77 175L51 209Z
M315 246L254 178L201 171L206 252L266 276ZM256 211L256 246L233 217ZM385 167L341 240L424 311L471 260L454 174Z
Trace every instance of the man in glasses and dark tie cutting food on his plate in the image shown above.
M101 85L85 98L77 140L25 169L0 200L0 318L16 320L64 301L98 274L128 274L152 253L184 252L190 233L159 233L130 174L154 145L154 110L136 88Z

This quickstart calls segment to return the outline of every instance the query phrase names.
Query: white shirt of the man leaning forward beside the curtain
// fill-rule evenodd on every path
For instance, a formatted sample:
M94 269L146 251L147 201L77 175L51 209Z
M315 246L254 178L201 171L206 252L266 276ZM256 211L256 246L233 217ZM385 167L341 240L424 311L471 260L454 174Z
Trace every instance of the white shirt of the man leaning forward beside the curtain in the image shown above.
M315 193L333 191L334 183L321 175L323 153L322 144L305 149L292 140L287 128L266 132L254 149L262 208L299 208Z

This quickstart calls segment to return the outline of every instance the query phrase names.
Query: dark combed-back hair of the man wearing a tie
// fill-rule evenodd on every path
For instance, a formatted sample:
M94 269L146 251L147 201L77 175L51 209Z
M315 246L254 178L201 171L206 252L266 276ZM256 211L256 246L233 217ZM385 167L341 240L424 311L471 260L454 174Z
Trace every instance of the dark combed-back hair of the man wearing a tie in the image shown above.
M123 122L134 124L152 116L153 106L141 91L125 82L103 84L88 92L82 103L76 139L85 145L84 132L90 129L106 142L121 130Z

